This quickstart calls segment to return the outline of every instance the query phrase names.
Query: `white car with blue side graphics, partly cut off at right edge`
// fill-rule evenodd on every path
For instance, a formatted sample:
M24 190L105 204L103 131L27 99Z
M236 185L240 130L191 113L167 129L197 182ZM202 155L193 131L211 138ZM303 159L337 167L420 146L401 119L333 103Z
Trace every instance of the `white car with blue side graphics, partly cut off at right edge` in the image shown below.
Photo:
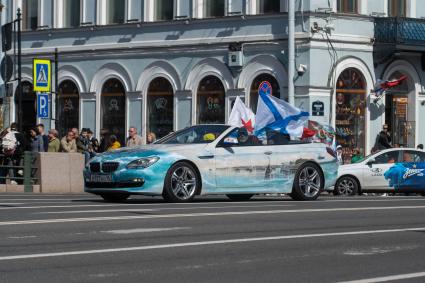
M342 165L334 194L361 192L425 193L425 152L413 148L391 148Z

